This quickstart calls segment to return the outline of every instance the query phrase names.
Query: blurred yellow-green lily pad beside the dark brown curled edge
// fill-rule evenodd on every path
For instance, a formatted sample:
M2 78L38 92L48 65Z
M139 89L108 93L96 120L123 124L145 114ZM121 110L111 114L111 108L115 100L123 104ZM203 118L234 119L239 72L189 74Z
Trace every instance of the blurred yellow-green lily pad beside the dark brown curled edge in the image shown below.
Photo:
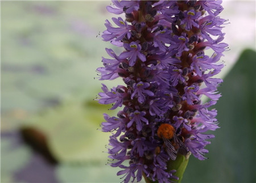
M99 129L104 121L102 113L108 112L108 108L97 101L85 104L71 101L32 117L25 126L46 134L49 148L59 161L105 160L107 155L102 151L111 134Z

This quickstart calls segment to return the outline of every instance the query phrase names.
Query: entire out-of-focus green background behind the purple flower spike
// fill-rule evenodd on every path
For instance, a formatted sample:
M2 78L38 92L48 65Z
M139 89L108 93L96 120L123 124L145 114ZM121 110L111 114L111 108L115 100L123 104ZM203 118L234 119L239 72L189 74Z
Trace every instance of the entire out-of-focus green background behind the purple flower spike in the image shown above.
M105 48L117 50L100 37L109 4L1 2L1 182L120 182L105 165L110 134L98 130L102 113L117 111L93 100ZM255 2L236 2L241 20L232 3L223 6L231 50L215 106L221 128L209 159L191 156L183 182L256 181Z

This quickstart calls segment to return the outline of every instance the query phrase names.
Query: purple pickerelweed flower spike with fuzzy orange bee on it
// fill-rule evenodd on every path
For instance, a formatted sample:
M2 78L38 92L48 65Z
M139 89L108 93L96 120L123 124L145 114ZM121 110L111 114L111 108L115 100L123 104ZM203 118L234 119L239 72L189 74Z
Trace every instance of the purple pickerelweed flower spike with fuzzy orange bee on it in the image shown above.
M123 107L117 117L104 114L102 131L112 132L108 153L112 167L122 168L123 182L172 182L178 177L168 161L192 153L205 159L205 146L216 130L217 111L208 109L221 96L213 78L228 45L218 14L221 1L113 1L107 7L115 25L106 20L104 41L124 48L121 54L106 49L97 69L100 80L123 79L110 90L102 84L100 104ZM205 54L211 49L212 55ZM207 103L201 97L207 96Z

